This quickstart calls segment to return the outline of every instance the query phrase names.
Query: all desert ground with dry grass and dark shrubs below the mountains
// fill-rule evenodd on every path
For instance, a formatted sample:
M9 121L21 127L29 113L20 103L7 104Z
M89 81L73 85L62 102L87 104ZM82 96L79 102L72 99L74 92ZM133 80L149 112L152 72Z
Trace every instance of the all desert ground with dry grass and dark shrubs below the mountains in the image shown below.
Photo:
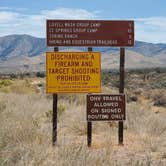
M117 71L102 72L102 92L118 93ZM126 71L124 145L117 122L93 122L87 147L86 95L58 95L58 142L52 146L52 95L44 74L0 79L0 165L165 166L166 70Z

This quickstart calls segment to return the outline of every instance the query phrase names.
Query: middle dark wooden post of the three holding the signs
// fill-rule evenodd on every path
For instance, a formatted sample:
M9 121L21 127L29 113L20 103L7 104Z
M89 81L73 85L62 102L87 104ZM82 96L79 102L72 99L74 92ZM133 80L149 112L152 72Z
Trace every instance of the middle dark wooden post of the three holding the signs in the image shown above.
M88 51L92 52L93 51L92 47L88 47ZM91 144L92 144L92 122L91 121L87 122L87 143L88 143L88 147L91 147Z

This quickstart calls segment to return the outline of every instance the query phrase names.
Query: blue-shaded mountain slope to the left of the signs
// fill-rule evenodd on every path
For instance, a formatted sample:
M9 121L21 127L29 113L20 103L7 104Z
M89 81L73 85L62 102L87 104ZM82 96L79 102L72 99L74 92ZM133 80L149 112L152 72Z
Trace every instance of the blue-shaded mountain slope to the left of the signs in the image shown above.
M45 39L29 35L0 37L0 59L13 56L36 56L47 50Z

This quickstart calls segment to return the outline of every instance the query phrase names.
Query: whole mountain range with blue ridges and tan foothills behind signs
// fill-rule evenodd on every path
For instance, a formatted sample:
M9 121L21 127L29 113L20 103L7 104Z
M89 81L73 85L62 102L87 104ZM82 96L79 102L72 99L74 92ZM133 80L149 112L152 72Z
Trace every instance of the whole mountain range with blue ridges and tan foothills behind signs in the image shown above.
M45 38L30 35L0 37L0 72L45 70ZM60 47L61 51L87 51L85 47ZM94 47L102 53L102 68L117 68L119 48ZM166 67L166 44L135 41L126 49L126 68Z

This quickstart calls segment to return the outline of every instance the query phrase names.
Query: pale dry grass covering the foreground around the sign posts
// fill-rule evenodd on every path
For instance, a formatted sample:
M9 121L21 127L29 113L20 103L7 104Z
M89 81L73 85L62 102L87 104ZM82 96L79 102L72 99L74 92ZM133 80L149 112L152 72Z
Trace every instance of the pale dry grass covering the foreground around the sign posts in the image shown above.
M0 165L166 165L166 110L155 113L151 100L127 104L124 146L118 146L116 122L93 122L88 148L85 95L59 95L58 142L52 147L52 97L34 92L0 92Z

